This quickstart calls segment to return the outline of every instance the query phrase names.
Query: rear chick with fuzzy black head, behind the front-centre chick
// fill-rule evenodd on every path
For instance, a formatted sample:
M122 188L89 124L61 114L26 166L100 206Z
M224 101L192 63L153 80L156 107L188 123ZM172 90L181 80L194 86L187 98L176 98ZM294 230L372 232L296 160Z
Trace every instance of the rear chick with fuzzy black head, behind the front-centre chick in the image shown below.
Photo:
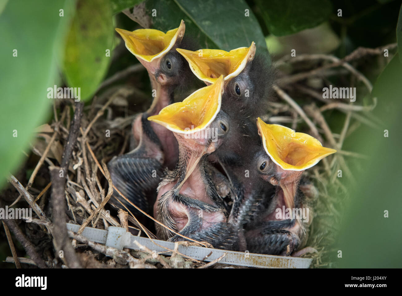
M257 51L254 42L229 52L216 49L189 51L177 49L189 62L193 73L206 84L225 76L222 110L228 113L231 129L227 140L209 156L230 179L236 197L230 223L241 230L265 199L267 186L250 169L252 156L259 149L259 137L250 119L265 113L273 81L269 56ZM254 119L253 119L254 120ZM251 175L250 175L251 172ZM244 244L243 244L244 245Z

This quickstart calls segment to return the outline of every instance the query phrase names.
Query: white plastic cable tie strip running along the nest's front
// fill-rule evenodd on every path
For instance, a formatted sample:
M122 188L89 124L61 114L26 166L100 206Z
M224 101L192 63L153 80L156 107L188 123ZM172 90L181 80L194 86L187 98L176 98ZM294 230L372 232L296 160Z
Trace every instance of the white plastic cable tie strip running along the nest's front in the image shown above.
M77 232L79 228L80 225L67 223L68 230ZM120 250L123 249L123 247L139 250L139 247L134 243L137 241L139 244L151 249L152 251L167 254L171 253L166 251L166 249L155 245L149 238L133 236L131 233L126 232L125 228L121 227L110 226L108 230L85 227L82 236L85 236L88 240L96 243L106 244L108 247L115 247ZM163 247L171 250L174 249L174 243L164 240L154 241ZM308 258L252 254L195 246L186 247L184 245L178 246L178 252L197 260L204 259L212 252L212 254L204 259L204 261L213 261L226 253L226 256L218 261L218 263L260 268L308 268L312 262L312 259Z

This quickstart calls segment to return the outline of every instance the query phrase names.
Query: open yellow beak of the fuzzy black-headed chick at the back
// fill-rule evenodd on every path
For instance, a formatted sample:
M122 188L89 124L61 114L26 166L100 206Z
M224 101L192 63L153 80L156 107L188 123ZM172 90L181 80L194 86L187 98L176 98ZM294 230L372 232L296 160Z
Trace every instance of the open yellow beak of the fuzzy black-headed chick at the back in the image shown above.
M253 41L250 47L239 47L229 52L220 49L176 50L189 62L195 76L204 82L214 83L221 75L229 80L242 72L247 62L254 58L255 43Z

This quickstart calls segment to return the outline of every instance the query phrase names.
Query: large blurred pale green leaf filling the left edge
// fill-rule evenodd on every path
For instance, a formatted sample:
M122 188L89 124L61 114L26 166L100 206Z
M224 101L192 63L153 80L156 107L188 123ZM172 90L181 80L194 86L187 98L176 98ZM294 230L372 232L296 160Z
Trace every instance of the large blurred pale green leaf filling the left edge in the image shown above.
M9 1L0 15L0 187L21 163L33 129L51 110L47 88L58 80L57 61L73 4Z

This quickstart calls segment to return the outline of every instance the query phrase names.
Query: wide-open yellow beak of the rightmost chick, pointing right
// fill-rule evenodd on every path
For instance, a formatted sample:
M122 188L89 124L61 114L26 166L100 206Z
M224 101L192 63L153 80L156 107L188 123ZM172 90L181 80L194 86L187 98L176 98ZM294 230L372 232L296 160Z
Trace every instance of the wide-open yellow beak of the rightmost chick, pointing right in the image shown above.
M284 170L304 171L336 150L322 147L316 138L278 124L257 119L258 133L272 161Z

